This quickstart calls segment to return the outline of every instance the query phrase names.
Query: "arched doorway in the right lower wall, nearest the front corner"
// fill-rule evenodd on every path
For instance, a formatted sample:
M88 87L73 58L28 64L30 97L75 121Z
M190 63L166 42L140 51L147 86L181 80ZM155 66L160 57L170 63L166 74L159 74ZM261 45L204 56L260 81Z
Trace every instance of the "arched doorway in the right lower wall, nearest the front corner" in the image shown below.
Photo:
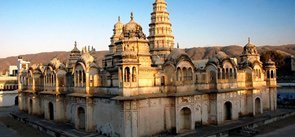
M187 107L180 110L180 131L191 130L191 110Z

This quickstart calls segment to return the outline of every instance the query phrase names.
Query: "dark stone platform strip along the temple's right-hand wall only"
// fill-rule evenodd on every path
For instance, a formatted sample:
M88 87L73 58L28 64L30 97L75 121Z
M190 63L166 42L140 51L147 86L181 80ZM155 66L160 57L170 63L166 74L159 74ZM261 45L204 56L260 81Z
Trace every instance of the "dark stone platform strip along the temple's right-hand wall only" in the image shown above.
M250 132L258 132L256 127L263 126L295 115L295 109L278 109L275 112L266 112L256 117L242 117L239 120L229 121L223 125L209 125L196 127L194 131L176 135L177 137L217 137L217 136L253 136ZM248 133L248 135L246 135Z

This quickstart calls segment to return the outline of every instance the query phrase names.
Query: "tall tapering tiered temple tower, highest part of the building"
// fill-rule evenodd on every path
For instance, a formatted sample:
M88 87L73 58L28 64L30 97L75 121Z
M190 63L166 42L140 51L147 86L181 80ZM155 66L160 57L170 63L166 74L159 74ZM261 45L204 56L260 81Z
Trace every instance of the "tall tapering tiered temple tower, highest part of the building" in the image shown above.
M150 35L148 36L153 64L161 65L174 47L172 25L165 0L156 0L151 13Z

